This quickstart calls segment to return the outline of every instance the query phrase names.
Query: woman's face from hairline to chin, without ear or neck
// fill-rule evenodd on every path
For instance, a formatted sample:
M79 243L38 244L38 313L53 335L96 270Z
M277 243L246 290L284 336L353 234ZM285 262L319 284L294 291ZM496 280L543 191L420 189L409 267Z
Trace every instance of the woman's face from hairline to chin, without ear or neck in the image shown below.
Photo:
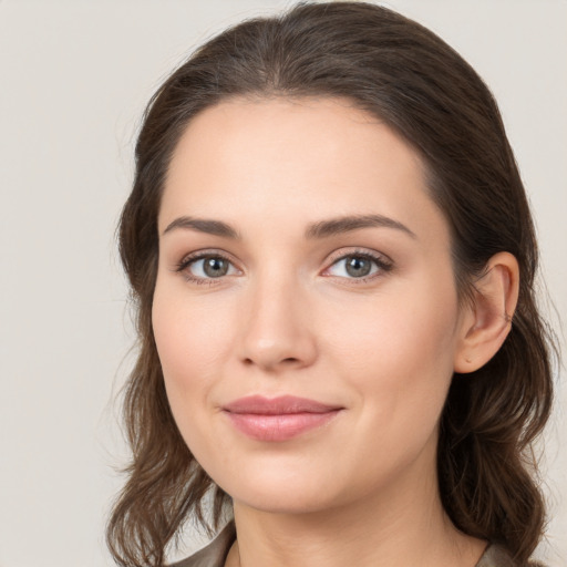
M347 101L197 115L158 218L173 414L236 504L309 512L435 480L465 332L416 153Z

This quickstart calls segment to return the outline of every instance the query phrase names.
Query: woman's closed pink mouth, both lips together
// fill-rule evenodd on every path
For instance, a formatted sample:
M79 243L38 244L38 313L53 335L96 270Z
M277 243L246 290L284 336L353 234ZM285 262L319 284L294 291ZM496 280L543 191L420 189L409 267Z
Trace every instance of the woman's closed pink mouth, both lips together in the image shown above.
M257 441L281 442L321 427L343 408L306 398L284 395L240 398L223 406L223 412L240 433Z

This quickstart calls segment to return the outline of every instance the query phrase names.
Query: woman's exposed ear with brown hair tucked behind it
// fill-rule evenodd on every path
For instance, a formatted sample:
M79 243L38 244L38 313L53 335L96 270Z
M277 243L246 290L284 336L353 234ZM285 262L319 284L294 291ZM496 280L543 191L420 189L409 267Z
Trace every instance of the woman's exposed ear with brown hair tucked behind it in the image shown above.
M512 328L519 288L519 269L509 252L493 256L474 282L473 299L463 308L454 370L474 372L498 352Z

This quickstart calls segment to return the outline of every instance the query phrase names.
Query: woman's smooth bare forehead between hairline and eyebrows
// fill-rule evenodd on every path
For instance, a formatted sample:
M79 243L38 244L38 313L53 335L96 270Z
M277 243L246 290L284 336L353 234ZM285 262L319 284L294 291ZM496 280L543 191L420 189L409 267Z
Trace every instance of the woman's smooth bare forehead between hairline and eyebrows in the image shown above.
M235 99L187 126L169 165L159 226L178 215L289 225L337 214L425 226L425 209L440 212L424 179L417 153L348 100Z

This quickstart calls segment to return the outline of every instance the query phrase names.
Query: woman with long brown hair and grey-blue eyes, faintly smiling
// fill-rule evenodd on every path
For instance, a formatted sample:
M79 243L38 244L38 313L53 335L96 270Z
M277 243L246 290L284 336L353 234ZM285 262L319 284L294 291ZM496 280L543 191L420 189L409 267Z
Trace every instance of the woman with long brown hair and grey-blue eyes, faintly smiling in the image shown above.
M488 90L432 32L301 4L155 94L120 227L141 351L121 565L522 566L551 404L537 247Z

